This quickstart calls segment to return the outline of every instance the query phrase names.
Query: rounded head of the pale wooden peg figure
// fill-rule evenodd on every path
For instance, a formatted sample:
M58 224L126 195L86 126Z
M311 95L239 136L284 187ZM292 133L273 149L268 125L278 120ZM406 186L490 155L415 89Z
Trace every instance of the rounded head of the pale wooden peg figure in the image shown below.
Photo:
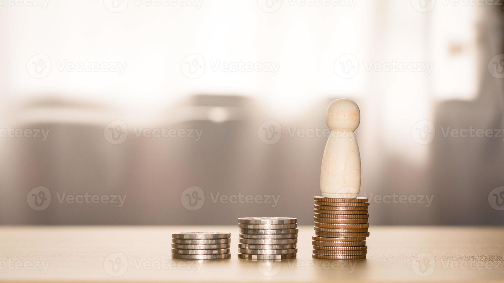
M327 108L326 123L331 130L356 130L360 123L359 106L350 99L336 99Z

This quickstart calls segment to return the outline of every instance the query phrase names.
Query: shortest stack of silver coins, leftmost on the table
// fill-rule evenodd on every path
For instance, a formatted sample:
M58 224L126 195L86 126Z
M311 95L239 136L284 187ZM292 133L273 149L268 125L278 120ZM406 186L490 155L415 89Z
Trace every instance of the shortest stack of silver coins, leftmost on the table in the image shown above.
M176 232L171 234L171 257L182 259L231 258L231 233Z

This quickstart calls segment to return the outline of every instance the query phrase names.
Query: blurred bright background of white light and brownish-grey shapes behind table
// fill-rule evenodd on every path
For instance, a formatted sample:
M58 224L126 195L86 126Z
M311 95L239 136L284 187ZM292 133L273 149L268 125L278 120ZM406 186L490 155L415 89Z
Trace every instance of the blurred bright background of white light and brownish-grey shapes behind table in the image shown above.
M0 224L312 224L337 98L371 224L504 224L503 5L0 0Z

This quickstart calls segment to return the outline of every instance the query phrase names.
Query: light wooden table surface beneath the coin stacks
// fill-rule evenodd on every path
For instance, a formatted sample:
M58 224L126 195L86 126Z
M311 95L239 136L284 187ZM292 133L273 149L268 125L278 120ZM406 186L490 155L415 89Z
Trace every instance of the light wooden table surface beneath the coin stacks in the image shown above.
M232 257L171 259L176 231L231 232ZM301 226L297 259L251 261L237 258L237 226L0 227L0 280L504 281L504 228L376 226L369 231L365 260L312 259L313 227ZM112 262L119 265L112 268Z

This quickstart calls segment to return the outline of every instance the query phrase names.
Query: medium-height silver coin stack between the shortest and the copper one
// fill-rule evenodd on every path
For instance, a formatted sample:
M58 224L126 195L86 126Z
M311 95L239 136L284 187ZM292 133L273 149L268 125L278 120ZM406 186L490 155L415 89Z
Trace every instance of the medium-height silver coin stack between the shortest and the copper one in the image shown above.
M238 218L238 227L238 258L296 258L298 229L295 218Z

